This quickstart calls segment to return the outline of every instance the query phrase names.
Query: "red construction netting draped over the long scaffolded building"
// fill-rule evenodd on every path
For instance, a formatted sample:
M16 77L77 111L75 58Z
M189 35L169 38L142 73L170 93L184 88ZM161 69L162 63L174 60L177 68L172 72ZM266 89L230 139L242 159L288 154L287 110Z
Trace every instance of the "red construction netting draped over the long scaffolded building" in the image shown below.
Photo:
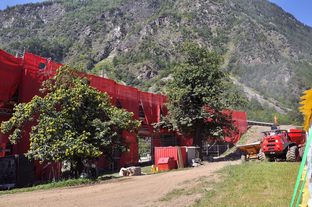
M23 70L23 58L15 58L9 53L0 49L0 102L7 103L10 101L12 95L15 93L17 86L19 88L19 103L27 103L32 100L35 95L44 97L46 94L41 94L39 89L42 87L43 81L53 76L56 68L63 66L60 63L51 61L51 59L42 58L37 55L25 53L24 69ZM39 70L40 63L45 63L46 67ZM148 123L149 132L154 133L154 127L151 123L159 122L160 113L165 116L168 113L167 107L163 104L167 103L167 97L164 95L151 94L139 91L137 88L117 84L114 80L102 78L95 75L88 75L90 79L90 86L97 88L101 92L106 92L111 99L111 104L116 104L118 98L122 108L129 112L133 112L134 119L139 119L139 104L142 104L142 108L145 114L146 121ZM240 130L240 134L247 130L247 120L245 112L233 112L233 119L236 119L236 125ZM8 118L2 118L8 120ZM1 120L0 120L1 121ZM26 153L29 149L29 132L31 130L31 123L27 125L25 129L25 137L21 139L20 143L12 146L11 154ZM165 128L160 128L163 134L174 134L174 132L168 132ZM123 136L127 138L128 142L131 142L130 153L128 155L122 155L119 161L118 167L129 165L138 165L138 143L135 142L134 134L123 132ZM4 135L0 132L0 143L6 143L8 141L8 135ZM233 143L239 140L239 136L228 138ZM191 146L190 140L183 140L181 138L182 146ZM155 141L154 145L159 143ZM185 144L185 145L183 145ZM100 161L103 161L101 158ZM99 161L99 162L100 162ZM107 167L107 162L99 164L101 167ZM39 168L39 167L38 167ZM38 172L37 172L38 173ZM38 176L38 175L37 175Z

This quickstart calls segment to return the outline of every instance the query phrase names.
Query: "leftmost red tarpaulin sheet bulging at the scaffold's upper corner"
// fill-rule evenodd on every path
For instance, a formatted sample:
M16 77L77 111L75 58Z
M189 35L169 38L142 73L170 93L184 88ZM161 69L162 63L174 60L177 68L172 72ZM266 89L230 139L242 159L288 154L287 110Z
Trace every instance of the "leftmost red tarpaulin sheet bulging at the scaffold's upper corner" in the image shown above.
M0 49L0 102L8 103L15 93L23 69L23 58Z

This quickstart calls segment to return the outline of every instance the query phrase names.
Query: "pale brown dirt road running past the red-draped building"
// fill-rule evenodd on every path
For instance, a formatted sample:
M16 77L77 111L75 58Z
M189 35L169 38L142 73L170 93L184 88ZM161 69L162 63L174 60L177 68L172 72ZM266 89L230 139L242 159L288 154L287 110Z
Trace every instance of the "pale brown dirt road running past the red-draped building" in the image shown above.
M200 195L180 196L171 201L157 200L173 189L193 185L192 182L183 181L195 180L200 176L205 176L207 181L217 180L213 171L240 162L214 161L191 170L121 177L82 186L2 195L0 206L187 206Z

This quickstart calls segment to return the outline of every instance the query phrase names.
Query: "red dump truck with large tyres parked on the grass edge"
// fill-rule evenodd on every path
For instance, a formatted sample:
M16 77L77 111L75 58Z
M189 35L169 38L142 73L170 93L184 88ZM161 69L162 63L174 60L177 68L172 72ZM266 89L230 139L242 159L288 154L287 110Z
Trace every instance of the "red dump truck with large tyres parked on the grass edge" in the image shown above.
M305 152L305 131L280 129L272 126L270 131L261 131L261 149L272 161L300 161Z

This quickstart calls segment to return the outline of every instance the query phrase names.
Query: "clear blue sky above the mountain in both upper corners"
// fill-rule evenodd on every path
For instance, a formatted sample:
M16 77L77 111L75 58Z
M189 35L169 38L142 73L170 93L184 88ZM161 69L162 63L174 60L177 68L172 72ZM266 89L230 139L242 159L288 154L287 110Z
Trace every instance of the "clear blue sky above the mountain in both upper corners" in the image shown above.
M282 7L286 12L291 13L300 22L312 26L312 1L311 0L269 0ZM0 9L3 10L9 6L25 3L36 3L37 0L0 0ZM39 0L41 2L41 0Z

